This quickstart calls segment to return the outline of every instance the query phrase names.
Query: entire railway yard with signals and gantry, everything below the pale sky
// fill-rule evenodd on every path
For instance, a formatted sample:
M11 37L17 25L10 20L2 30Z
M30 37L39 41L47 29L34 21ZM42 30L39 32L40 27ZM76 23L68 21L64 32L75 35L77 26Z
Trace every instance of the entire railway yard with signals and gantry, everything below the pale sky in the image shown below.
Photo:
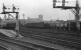
M4 16L4 19L0 19L0 50L81 50L78 1L76 0L75 7L65 6L66 0L59 0L62 6L57 6L57 1L53 0L53 8L72 10L74 20L44 21L43 15L36 19L20 19L19 8L14 4L12 8L7 8L3 3L0 13ZM24 16L23 14L23 18Z

